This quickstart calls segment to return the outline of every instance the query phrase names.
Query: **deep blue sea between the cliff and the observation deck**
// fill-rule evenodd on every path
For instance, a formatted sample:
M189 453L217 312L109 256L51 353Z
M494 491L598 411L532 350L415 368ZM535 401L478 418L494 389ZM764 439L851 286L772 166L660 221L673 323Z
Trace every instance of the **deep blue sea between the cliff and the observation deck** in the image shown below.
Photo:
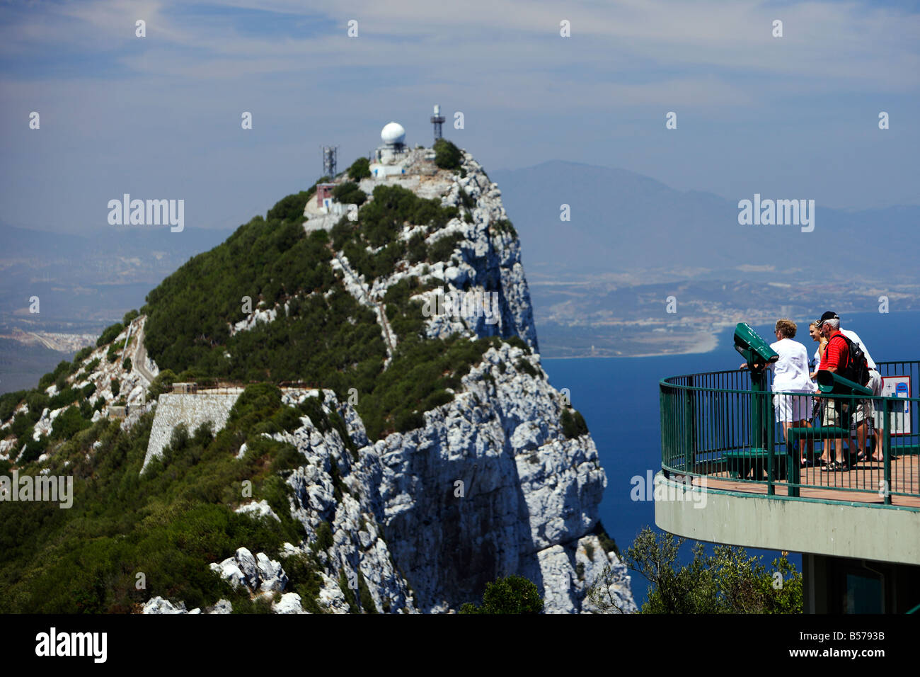
M820 316L823 310L816 310ZM796 340L814 352L816 344L808 335L812 318L793 318L799 324ZM920 313L860 313L841 316L841 325L862 339L869 354L878 362L920 359L917 345ZM773 323L754 324L753 328L768 342L776 340ZM539 328L537 328L539 332ZM607 489L601 502L600 517L604 528L624 552L645 526L655 527L655 508L650 501L632 501L630 479L646 477L661 469L661 425L659 420L660 379L678 374L719 371L737 368L741 356L735 351L730 328L719 333L717 347L698 355L660 357L586 357L543 359L543 368L557 389L568 388L572 406L578 409L607 473ZM682 554L689 561L689 546ZM763 555L765 566L779 556L776 551L748 549L749 554ZM801 555L789 559L801 571ZM641 606L647 597L648 582L631 571L633 595Z

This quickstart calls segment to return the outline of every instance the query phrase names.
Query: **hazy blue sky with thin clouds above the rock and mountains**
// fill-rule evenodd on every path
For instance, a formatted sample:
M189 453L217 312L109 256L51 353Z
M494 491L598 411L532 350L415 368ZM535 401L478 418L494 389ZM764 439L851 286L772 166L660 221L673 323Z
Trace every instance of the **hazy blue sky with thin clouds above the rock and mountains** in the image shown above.
M430 145L436 102L487 170L558 158L732 200L920 204L918 73L917 2L5 4L0 221L105 228L131 193L236 227L315 181L322 143L340 168L390 120Z

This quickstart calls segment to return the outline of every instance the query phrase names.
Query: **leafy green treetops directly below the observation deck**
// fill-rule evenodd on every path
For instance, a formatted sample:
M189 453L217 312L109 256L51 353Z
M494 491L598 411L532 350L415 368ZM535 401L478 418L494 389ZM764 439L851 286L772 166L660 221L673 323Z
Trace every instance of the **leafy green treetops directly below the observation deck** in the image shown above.
M650 583L641 613L801 613L801 574L786 555L767 570L760 557L749 557L743 548L717 545L707 555L696 543L690 564L675 569L683 543L670 533L656 537L646 527L627 549L624 564ZM609 595L611 578L608 566L588 591L601 613L623 611Z

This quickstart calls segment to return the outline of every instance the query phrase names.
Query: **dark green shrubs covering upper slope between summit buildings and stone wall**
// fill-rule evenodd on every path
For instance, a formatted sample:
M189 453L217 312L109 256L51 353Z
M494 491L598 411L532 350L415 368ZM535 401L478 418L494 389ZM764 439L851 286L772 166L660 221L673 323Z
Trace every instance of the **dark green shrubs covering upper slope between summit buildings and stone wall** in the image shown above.
M342 400L354 388L372 439L420 426L421 414L450 402L453 395L445 389L459 388L459 379L491 343L425 339L420 304L409 300L422 287L409 278L384 299L398 337L397 353L384 371L386 347L374 311L345 291L329 262L333 251L344 250L368 277L388 274L406 256L407 242L397 238L404 224L433 232L457 216L456 208L399 186L377 186L356 222L342 219L333 228L330 246L325 231L307 236L301 228L301 195L289 195L269 210L269 216L290 214L293 220L257 216L147 295L148 353L161 368L184 372L183 378L303 380L336 391ZM458 239L443 238L431 248L422 241L424 257L430 260L432 252L446 257ZM368 247L383 249L372 254ZM287 303L288 313L282 310L275 321L231 336L228 323L246 317L244 297L252 309L259 300L269 308Z

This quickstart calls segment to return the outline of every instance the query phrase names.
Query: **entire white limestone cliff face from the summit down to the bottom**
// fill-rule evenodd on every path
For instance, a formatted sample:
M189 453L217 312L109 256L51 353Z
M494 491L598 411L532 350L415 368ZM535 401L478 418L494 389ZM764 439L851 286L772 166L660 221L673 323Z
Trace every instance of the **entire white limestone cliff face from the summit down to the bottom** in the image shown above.
M454 401L424 414L423 427L373 445L354 409L325 392L327 406L347 421L359 460L351 459L338 433L320 434L308 419L293 435L275 436L292 442L308 460L288 478L295 496L292 514L311 534L322 521L331 524L335 545L322 554L330 588L340 571L348 576L360 569L379 609L455 610L477 601L487 582L516 573L535 581L547 612L580 612L586 589L608 565L614 569L615 596L634 608L626 567L590 533L606 476L590 435L563 434L564 404L540 366L520 242L501 224L507 215L500 190L468 154L464 178L444 171L413 175L425 164L424 154L413 151L408 176L387 182L422 197L440 196L444 205L475 203L473 223L454 219L429 237L431 243L462 236L450 260L403 263L371 285L351 271L344 255L339 253L333 266L343 271L351 295L373 309L386 289L411 275L443 280L443 293L497 295L497 318L468 306L430 317L429 336L518 335L533 352L510 344L490 348ZM365 180L361 187L373 193L374 185ZM305 228L319 227L316 220ZM322 216L318 220L328 223ZM402 237L415 232L407 225ZM416 298L433 304L436 293ZM377 317L397 344L385 315ZM307 394L285 397L298 401ZM340 501L333 496L333 464L348 487Z

